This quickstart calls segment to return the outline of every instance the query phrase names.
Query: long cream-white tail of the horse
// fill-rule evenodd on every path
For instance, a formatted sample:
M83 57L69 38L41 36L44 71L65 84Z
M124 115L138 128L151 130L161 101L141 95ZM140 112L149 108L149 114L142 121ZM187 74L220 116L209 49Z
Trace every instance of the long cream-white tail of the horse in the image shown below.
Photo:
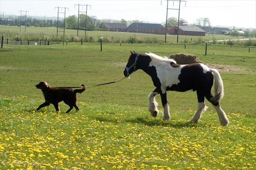
M210 69L210 71L213 73L213 80L214 80L213 97L210 100L212 101L212 103L217 103L217 102L219 103L224 96L224 86L223 86L222 78L220 77L218 70Z

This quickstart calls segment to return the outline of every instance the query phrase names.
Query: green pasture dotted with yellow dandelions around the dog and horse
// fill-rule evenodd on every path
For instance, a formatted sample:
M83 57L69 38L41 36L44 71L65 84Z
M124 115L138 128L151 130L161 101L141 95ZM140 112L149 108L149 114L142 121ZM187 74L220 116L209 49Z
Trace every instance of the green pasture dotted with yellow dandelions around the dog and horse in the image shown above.
M209 45L70 43L4 45L0 49L1 169L255 169L256 50ZM123 78L129 50L160 56L186 52L204 63L234 66L219 70L222 108L230 125L220 126L209 109L198 124L187 122L197 109L196 92L167 92L171 120L152 118L154 90L141 70L115 84L78 94L79 112L61 113L44 102L35 85L87 86ZM160 97L156 98L160 102ZM159 107L162 109L162 107Z

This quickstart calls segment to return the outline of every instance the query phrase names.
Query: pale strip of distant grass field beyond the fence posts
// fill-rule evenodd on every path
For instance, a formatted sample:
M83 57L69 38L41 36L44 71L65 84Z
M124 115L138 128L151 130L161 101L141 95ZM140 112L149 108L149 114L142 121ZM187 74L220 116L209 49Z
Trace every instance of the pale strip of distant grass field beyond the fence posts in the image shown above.
M15 36L19 36L19 39L25 40L31 40L31 41L39 41L42 39L42 41L45 39L45 37L48 37L47 39L49 41L57 41L57 28L55 27L26 27L25 32L25 26L20 27L17 26L0 26L0 35L4 36L5 38L9 38L12 41L15 40ZM63 33L58 33L59 38L63 38ZM65 29L65 40L71 40L72 37L75 37L77 35L77 30L70 30ZM79 30L78 36L80 38L84 39L84 31ZM140 34L140 33L123 33L123 32L111 32L111 31L87 31L87 40L90 41L90 37L93 38L92 41L97 42L99 37L108 37L108 40L104 41L110 41L110 42L126 42L129 38L136 38L137 40L143 41L143 42L164 42L165 41L165 35L155 35L155 34ZM229 40L229 39L242 39L244 37L232 37L227 35L208 35L200 37L200 40L205 41L212 41L213 38L215 40ZM187 35L179 35L179 42L184 43L186 42L195 42L198 41L199 36L187 36ZM177 35L167 35L166 38L167 42L177 42Z

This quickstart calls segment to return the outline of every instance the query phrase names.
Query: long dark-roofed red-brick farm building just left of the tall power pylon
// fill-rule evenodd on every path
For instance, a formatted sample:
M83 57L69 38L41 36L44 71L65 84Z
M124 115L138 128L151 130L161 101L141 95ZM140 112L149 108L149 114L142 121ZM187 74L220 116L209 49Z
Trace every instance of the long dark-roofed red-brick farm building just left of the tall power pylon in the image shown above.
M153 23L132 23L127 27L130 33L165 34L165 28L161 24Z

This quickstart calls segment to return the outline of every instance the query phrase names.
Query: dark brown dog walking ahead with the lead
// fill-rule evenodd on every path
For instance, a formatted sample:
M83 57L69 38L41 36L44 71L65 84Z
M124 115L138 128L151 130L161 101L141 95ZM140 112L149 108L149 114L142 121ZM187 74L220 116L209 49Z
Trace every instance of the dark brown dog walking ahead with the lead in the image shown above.
M76 93L82 93L86 89L85 85L81 84L81 86L83 86L81 89L72 90L72 88L68 87L51 87L46 82L40 82L36 87L42 90L45 102L41 104L37 110L53 104L56 112L59 112L58 103L64 101L64 103L70 107L66 113L69 113L73 107L78 111L79 108L76 105Z

